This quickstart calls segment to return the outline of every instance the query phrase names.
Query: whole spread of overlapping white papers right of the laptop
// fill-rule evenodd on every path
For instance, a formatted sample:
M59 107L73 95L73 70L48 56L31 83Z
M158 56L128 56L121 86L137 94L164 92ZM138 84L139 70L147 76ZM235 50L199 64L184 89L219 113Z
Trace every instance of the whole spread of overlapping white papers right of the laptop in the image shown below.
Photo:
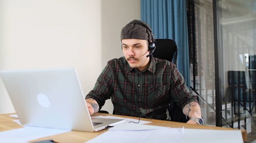
M207 130L168 128L151 125L122 123L109 131L89 140L87 143L243 143L241 130Z

